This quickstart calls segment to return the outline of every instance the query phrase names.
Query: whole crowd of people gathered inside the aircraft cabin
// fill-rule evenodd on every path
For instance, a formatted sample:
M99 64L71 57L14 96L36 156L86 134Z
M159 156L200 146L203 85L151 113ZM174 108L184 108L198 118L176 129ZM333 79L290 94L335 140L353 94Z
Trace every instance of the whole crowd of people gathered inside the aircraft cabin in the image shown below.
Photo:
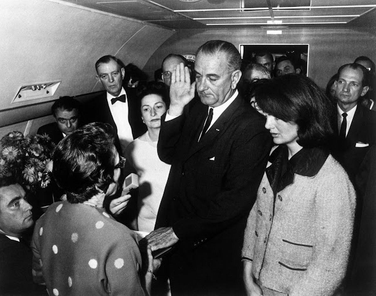
M374 63L338 65L326 91L288 56L241 64L220 40L194 69L168 54L150 82L101 57L105 90L59 98L38 130L60 201L33 225L24 188L0 179L0 291L374 293Z

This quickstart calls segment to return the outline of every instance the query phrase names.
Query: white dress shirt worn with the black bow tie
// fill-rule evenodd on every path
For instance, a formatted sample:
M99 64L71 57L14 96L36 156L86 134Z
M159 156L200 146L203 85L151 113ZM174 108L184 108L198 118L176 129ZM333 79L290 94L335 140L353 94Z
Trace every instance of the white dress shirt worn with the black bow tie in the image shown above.
M125 95L126 100L127 94L124 90L124 87L121 89L120 94L118 97ZM116 101L114 105L111 104L111 99L116 98L115 96L107 93L107 103L108 107L110 108L112 117L114 118L116 127L117 127L117 134L120 141L121 151L125 152L126 147L130 142L133 141L133 135L132 135L132 128L130 127L129 121L128 121L128 102L125 103Z

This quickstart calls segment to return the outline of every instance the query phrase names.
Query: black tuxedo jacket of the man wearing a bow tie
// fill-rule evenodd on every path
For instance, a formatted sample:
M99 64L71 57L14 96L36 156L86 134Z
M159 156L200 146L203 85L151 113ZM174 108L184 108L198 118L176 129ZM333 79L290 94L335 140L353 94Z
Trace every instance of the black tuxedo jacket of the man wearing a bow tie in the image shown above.
M135 139L144 134L147 128L141 119L141 104L136 97L135 90L129 87L125 88L125 90L128 103L128 122L132 128L133 139ZM83 110L85 112L84 121L86 123L103 122L112 125L115 130L115 146L121 155L120 141L117 136L117 126L107 104L106 91L101 92L96 98L92 99L92 101L86 103Z

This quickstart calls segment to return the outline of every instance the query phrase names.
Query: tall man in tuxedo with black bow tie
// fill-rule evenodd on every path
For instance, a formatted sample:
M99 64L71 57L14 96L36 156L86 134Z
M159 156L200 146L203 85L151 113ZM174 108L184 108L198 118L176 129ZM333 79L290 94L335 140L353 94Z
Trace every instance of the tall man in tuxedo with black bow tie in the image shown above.
M133 139L146 132L141 120L140 102L134 89L123 87L125 75L123 63L114 56L103 56L95 67L97 79L105 87L105 92L85 106L87 122L109 123L115 129L115 146L119 154Z

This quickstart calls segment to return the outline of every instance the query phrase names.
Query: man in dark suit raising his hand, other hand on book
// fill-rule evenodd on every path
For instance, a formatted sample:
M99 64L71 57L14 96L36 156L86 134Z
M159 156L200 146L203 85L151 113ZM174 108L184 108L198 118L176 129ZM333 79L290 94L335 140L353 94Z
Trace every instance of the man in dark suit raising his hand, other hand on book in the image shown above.
M181 63L171 76L158 154L171 164L152 250L175 246L168 264L172 294L238 294L240 250L271 147L264 117L238 95L241 58L225 41L196 54L196 82ZM190 110L195 86L202 103ZM159 228L161 227L161 228ZM167 259L167 258L166 258Z

